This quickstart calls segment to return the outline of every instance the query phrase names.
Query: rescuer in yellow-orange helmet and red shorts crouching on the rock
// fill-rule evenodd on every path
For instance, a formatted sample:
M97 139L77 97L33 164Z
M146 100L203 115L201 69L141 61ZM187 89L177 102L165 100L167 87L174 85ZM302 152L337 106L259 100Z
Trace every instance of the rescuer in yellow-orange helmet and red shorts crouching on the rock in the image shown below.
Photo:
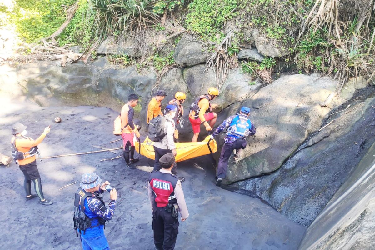
M208 88L208 94L199 96L190 106L189 120L194 133L192 142L198 141L202 123L207 131L211 131L212 127L215 125L217 114L211 112L211 110L217 108L217 104L211 105L211 100L215 99L218 95L219 90L217 90L217 88ZM208 123L208 121L210 121L210 123Z

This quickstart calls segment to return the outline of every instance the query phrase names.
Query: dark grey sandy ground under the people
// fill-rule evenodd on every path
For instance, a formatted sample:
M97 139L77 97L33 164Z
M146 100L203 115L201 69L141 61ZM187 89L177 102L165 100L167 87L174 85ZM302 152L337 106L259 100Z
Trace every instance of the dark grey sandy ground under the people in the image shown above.
M121 146L120 141L110 143L118 139L112 135L117 113L108 108L41 108L4 96L0 96L0 107L0 152L7 155L11 126L17 121L28 126L28 136L34 139L52 124L51 133L39 146L43 157L100 150L93 145ZM55 116L60 116L62 123L54 123ZM141 156L138 169L124 168L122 157L99 162L120 154L117 150L37 160L44 195L54 202L51 206L40 205L38 198L25 201L24 177L18 165L1 166L1 249L80 249L73 230L74 193L81 175L91 171L118 190L115 216L105 229L111 249L154 249L146 184L153 161ZM178 173L186 178L182 185L190 216L180 222L175 249L297 249L305 228L258 199L216 187L209 157L179 163ZM74 181L77 184L59 190ZM104 200L109 201L108 193Z

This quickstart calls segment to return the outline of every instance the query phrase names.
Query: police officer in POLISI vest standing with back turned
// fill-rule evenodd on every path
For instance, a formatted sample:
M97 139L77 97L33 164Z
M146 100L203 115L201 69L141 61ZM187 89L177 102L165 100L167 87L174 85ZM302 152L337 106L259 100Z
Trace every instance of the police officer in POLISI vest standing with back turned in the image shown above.
M184 222L187 211L181 182L171 170L175 162L173 153L159 159L162 168L148 177L148 197L152 208L152 229L156 250L173 250L178 234L178 214Z

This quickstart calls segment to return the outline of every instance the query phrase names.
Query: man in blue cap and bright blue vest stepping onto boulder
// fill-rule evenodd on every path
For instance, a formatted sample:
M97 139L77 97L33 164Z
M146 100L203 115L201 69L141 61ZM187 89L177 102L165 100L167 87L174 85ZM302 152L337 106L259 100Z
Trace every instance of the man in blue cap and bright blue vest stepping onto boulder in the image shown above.
M249 114L250 108L242 107L239 114L226 118L211 135L211 139L213 139L226 129L225 143L221 150L219 163L217 164L216 186L220 186L223 178L226 176L226 169L228 169L229 157L232 151L236 150L234 162L237 163L242 155L243 149L246 147L246 137L255 135L256 128L249 119Z

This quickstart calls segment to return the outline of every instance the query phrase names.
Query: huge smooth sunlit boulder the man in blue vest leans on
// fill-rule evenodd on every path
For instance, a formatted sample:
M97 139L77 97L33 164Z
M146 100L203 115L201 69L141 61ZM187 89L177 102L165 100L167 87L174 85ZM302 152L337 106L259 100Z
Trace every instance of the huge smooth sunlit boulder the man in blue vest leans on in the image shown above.
M226 181L243 180L280 168L308 135L320 128L330 109L319 103L335 90L336 84L317 74L283 75L246 100L243 105L252 107L251 119L257 134L248 138L244 158L229 167Z

